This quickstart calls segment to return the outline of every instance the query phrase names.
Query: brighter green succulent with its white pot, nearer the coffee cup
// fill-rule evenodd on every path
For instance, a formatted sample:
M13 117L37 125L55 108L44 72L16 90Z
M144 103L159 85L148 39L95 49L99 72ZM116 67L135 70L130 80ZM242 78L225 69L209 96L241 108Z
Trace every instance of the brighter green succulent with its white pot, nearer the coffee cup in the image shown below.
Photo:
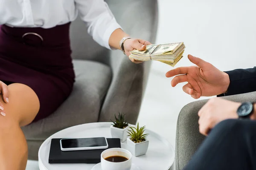
M148 134L144 134L145 126L139 127L139 123L136 127L129 127L129 137L127 138L128 150L134 156L144 155L148 150L149 141L146 139Z

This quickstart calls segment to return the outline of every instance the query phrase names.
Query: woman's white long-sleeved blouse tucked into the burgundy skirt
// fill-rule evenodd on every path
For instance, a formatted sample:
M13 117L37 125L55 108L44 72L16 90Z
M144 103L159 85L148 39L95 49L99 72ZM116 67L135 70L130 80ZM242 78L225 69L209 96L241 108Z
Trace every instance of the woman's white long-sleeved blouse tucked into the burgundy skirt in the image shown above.
M110 49L109 37L121 26L104 0L0 0L0 25L52 28L78 13L93 40Z

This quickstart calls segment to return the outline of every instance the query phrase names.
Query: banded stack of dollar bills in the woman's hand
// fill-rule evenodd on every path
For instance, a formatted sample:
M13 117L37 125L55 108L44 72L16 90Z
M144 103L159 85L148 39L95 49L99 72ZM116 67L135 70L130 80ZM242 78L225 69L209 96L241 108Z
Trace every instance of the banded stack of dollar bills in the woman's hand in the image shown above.
M175 42L159 45L147 45L144 51L130 51L130 58L138 61L157 60L174 67L177 62L183 57L185 45L183 42Z

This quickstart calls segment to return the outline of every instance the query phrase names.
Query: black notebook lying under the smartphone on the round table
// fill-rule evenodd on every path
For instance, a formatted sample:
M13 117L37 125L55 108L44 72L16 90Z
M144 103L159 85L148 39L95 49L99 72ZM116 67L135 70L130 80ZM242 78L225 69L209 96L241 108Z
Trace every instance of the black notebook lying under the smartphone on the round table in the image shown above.
M100 155L106 149L97 150L75 150L75 151L62 151L60 145L61 139L52 139L49 164L57 163L92 163L97 164L100 162ZM121 147L120 139L107 138L108 148Z

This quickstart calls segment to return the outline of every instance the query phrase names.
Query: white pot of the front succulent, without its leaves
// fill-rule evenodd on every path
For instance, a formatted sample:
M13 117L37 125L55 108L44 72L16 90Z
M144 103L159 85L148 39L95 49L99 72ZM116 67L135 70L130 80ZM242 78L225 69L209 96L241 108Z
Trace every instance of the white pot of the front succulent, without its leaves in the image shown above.
M130 137L127 138L128 150L133 156L144 155L148 150L149 141L146 139L144 142L134 143Z

